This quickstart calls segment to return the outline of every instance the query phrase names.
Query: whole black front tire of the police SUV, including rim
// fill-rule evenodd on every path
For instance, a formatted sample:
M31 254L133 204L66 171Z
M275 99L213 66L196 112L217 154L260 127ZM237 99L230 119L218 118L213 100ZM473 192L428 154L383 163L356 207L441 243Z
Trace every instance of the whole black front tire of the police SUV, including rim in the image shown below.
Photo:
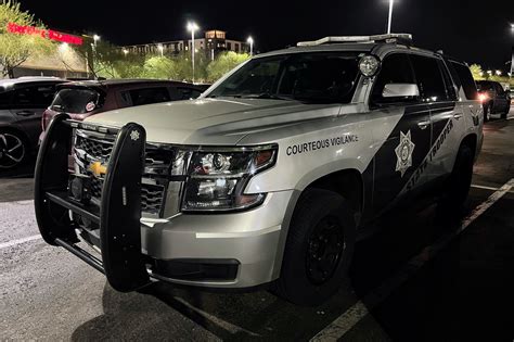
M272 292L298 305L325 302L347 279L355 231L352 211L343 197L307 189L293 214L281 276Z

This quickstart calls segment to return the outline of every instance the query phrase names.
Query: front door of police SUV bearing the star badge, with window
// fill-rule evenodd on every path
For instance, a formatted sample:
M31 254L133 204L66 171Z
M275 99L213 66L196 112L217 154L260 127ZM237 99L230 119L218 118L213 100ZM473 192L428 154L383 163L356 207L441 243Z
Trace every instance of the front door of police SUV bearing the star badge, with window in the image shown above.
M375 214L396 202L409 180L416 177L431 148L428 105L420 97L384 98L387 84L415 84L408 54L393 53L384 58L370 96L373 139L381 145L373 160ZM423 182L419 177L416 180Z

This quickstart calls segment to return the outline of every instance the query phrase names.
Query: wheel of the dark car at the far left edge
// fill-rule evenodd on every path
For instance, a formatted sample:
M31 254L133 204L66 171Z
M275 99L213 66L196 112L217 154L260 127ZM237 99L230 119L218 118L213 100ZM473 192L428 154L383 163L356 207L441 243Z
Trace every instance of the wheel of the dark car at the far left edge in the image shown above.
M28 156L25 137L10 129L0 129L0 172L22 165Z

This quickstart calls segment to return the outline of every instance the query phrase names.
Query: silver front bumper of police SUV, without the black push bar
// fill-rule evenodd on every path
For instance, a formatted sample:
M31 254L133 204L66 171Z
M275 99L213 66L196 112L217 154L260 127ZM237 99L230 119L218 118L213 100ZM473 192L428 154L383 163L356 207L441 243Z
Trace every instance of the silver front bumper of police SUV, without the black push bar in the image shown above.
M166 223L142 225L141 245L152 259L191 264L237 264L230 279L188 280L156 270L162 280L210 288L250 288L280 273L282 221L292 191L269 193L262 205L243 213L178 215ZM143 219L144 223L144 219ZM193 271L193 270L192 270Z

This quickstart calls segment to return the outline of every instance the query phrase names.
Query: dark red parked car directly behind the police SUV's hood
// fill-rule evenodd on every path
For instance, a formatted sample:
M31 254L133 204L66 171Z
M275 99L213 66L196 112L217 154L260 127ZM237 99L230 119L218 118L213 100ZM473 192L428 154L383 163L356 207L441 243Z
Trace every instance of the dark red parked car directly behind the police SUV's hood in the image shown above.
M88 116L143 104L196 99L207 85L172 80L107 79L81 80L60 85L57 93L42 116L44 136L50 121L57 113L82 121Z

